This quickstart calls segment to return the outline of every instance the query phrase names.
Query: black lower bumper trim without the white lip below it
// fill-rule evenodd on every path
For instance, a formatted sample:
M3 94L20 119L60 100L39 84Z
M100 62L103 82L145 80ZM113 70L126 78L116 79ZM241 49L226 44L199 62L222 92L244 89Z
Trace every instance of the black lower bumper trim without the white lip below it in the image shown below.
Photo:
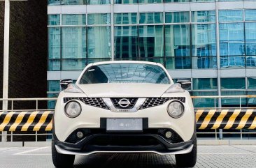
M115 139L115 141L112 143L111 141L108 142L108 140L107 142L104 142L104 139ZM118 142L118 139L121 139L121 142ZM123 139L127 140L124 142L122 141ZM147 141L145 141L145 143L136 144L129 139L133 139L134 142L136 142L136 140L138 142L143 142L143 139L146 139ZM158 151L161 153L170 153L190 147L193 144L194 139L187 142L172 144L160 135L154 134L95 134L85 137L76 144L59 142L57 139L55 139L55 144L66 151L78 153L92 151Z

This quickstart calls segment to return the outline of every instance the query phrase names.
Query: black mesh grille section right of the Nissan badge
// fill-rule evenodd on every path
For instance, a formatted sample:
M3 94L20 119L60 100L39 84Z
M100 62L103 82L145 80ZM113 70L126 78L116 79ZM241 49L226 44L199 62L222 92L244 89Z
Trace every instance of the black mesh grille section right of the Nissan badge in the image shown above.
M140 109L146 109L149 107L155 107L157 105L163 105L164 102L168 100L180 100L181 102L185 102L185 98L177 97L177 98L147 98Z

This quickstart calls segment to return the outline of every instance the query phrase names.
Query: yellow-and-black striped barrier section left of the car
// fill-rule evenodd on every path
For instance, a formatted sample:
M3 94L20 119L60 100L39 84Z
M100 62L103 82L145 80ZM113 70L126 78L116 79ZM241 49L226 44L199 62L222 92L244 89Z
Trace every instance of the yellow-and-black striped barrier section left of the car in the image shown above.
M53 111L0 112L0 131L50 131Z

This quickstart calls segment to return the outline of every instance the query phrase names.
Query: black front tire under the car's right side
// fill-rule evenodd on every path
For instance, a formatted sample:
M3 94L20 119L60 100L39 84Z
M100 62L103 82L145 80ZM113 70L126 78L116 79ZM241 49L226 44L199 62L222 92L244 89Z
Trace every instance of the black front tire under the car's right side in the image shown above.
M175 155L177 167L194 167L197 163L197 139L194 139L194 146L190 153Z

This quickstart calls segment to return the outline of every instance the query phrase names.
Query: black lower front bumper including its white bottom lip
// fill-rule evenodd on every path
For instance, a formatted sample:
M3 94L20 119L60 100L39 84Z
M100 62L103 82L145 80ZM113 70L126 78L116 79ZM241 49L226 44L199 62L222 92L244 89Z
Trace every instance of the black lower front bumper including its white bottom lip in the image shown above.
M54 134L54 144L58 153L68 155L90 155L93 153L157 153L184 154L190 153L196 133L189 141L172 143L164 136L143 132L99 132L80 139L79 142L61 142Z

